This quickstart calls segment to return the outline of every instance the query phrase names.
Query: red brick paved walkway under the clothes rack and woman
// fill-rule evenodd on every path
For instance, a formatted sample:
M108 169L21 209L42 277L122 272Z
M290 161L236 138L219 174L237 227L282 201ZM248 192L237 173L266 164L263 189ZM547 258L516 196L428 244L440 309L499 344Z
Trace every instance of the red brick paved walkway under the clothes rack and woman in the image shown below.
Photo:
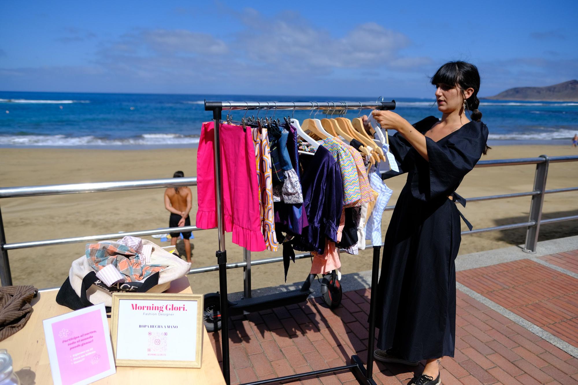
M541 257L578 270L578 250ZM558 338L578 346L578 280L531 260L461 271L458 282ZM321 298L231 319L231 383L349 364L367 358L369 289L344 293L330 310ZM457 291L455 357L442 360L450 384L578 384L578 360L483 303ZM220 334L209 334L221 361ZM374 379L406 384L415 369L374 364ZM357 383L342 372L303 384Z

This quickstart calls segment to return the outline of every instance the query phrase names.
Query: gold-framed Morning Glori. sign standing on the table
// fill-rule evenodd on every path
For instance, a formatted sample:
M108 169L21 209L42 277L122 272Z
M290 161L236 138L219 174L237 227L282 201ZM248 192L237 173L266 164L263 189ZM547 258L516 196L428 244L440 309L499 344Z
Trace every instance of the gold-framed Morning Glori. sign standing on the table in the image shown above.
M123 302L121 301L128 301ZM178 306L175 306L175 302ZM191 302L190 305L186 302ZM195 302L194 304L192 302ZM181 306L182 305L182 306ZM189 306L187 306L189 305ZM168 306L168 308L166 307ZM172 307L171 307L172 306ZM177 310L179 308L179 310ZM183 308L182 310L180 308ZM173 310L174 309L174 310ZM188 312L191 309L193 314L184 313L183 310L186 309ZM203 295L201 294L177 294L177 293L113 293L112 295L112 316L111 316L111 332L112 332L112 349L114 354L114 359L116 360L117 367L161 367L161 368L201 368L202 365L202 354L203 354ZM135 313L131 311L134 310ZM142 314L138 314L142 312ZM146 313L150 312L150 313ZM173 313L171 313L173 312ZM123 314L121 314L123 313ZM177 314L175 316L175 314ZM146 315L148 314L148 315ZM170 321L170 318L175 316L175 319L179 320L179 325L167 325L162 324L165 321ZM119 327L119 317L121 319L121 326ZM123 318L124 317L124 318ZM150 320L157 322L157 324L151 324ZM175 356L175 349L182 350L183 342L179 339L179 343L174 345L169 343L168 339L170 336L167 334L171 333L171 329L165 328L178 328L181 330L177 332L180 334L180 338L185 333L185 330L190 331L191 325L184 324L184 320L190 323L196 323L193 325L194 338L192 338L191 349L195 350L194 359L192 360L175 360L175 359L162 359L162 358L143 358L144 354L149 356ZM133 324L131 322L138 322L139 324ZM148 322L146 322L148 321ZM174 323L174 322L173 322ZM165 332L166 330L166 332ZM175 330L175 329L173 329ZM136 338L135 343L124 342L127 337L123 335L123 346L118 349L118 332L127 333L129 338ZM153 334L151 336L151 334ZM155 335L159 335L159 338L164 338L162 342L160 339L155 339ZM188 332L187 332L188 334ZM164 335L164 336L162 336ZM148 338L148 348L146 349L149 353L144 353L144 338ZM151 338L154 342L151 342ZM159 346L150 345L151 343L157 344ZM130 349L135 350L134 353L127 353L128 345ZM138 348L135 348L138 345ZM166 354L166 349L171 346L173 351L170 354ZM151 352L152 349L157 349ZM162 349L165 349L164 354ZM120 358L118 351L121 351ZM129 358L131 354L134 354L134 358ZM191 351L187 351L188 356L191 356ZM179 354L177 354L179 355Z

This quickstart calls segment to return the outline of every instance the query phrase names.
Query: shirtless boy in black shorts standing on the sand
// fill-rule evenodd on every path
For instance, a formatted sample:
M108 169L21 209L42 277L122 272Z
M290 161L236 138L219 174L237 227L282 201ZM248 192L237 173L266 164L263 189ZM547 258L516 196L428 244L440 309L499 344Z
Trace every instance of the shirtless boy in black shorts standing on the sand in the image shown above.
M182 171L177 171L173 178L184 177ZM190 226L191 219L188 212L191 211L191 189L188 187L170 187L165 190L165 209L171 212L169 227ZM183 234L184 250L187 254L187 262L191 262L191 232L172 232L171 245L176 246L179 235Z

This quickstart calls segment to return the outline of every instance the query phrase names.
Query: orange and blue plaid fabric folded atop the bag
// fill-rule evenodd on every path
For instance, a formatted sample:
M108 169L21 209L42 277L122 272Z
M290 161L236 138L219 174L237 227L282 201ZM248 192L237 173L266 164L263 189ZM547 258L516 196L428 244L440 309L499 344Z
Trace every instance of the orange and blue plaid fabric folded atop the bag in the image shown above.
M146 279L151 274L163 271L166 266L147 265L131 247L115 242L90 243L86 245L88 264L98 272L106 265L114 265L127 282Z

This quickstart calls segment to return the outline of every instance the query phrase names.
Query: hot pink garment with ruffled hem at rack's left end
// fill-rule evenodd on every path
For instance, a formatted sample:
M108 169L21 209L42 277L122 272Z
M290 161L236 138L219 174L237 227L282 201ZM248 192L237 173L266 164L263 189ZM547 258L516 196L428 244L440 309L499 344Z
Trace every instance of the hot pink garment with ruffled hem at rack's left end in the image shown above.
M259 186L251 130L239 125L219 126L225 231L232 241L250 251L265 250L261 233ZM203 123L197 150L197 200L195 225L217 227L214 172L214 122Z

